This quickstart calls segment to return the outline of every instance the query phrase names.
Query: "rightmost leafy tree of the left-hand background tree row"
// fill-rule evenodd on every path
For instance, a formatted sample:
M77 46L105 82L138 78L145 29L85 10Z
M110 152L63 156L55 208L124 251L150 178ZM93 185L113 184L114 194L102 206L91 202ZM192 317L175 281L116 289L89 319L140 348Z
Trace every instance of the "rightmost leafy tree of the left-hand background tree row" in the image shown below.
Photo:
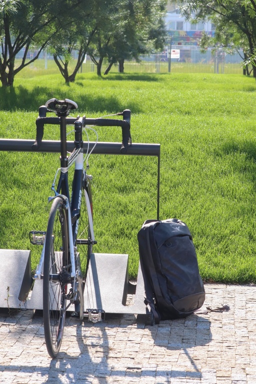
M165 4L165 0L119 0L118 6L109 7L104 26L98 27L87 51L98 74L104 57L111 66L131 58L139 61L139 55L163 48Z

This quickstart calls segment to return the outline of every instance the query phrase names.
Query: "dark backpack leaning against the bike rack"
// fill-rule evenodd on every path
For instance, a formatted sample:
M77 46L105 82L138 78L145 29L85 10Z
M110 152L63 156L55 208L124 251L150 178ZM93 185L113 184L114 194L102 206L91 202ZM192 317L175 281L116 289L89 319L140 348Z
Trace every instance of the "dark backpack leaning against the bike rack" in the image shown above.
M200 308L205 291L187 225L176 218L146 220L137 238L145 304L155 323Z

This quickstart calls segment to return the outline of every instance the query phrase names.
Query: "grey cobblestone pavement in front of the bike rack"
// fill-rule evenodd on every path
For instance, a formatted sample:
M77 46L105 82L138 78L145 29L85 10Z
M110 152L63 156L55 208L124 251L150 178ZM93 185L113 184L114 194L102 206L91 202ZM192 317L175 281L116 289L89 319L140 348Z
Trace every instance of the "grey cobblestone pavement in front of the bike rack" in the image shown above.
M6 384L255 384L256 286L206 284L203 308L151 326L147 316L66 319L58 358L47 355L42 317L0 314L0 382Z

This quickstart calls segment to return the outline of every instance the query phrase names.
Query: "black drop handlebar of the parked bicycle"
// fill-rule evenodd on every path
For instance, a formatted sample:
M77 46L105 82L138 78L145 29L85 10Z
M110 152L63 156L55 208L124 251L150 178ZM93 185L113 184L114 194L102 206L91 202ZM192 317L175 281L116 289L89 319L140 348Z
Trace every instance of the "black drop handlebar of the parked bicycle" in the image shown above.
M44 124L55 124L60 125L60 117L46 117L47 112L52 112L45 105L39 107L39 116L37 117L36 124L36 138L35 142L32 145L33 150L37 150L43 138ZM110 119L110 118L88 118L84 117L82 119L83 126L87 125L97 125L97 126L120 126L122 128L122 144L120 148L121 153L126 153L128 146L131 144L130 137L130 110L124 109L122 112L117 113L117 115L122 115L123 120L119 119ZM77 121L75 117L65 117L66 124L74 124Z

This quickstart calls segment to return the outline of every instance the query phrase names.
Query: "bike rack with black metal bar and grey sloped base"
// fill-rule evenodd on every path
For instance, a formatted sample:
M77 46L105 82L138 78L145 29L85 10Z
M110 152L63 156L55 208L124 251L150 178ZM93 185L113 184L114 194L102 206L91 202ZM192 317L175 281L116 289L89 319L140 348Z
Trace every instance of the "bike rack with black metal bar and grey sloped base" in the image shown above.
M0 139L1 151L59 152L60 141L43 140L34 151L34 140ZM89 143L89 151L95 142ZM140 155L157 157L157 219L159 219L160 144L133 143L125 154L120 153L121 143L97 142L92 154ZM74 149L67 141L67 150ZM35 280L32 290L31 260L29 250L0 249L0 307L42 309L42 280ZM130 305L125 305L127 294L132 294ZM84 289L84 305L89 315L108 313L148 313L144 304L144 283L140 268L136 284L128 281L128 255L92 253ZM95 308L92 308L95 306ZM73 308L70 307L70 310ZM92 320L93 321L93 320Z

